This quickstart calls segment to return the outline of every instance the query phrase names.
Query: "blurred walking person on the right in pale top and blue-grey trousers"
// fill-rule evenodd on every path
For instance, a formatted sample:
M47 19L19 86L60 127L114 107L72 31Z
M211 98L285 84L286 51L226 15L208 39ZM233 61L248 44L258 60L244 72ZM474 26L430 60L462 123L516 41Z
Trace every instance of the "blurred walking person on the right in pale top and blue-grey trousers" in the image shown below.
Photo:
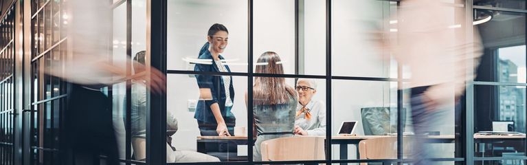
M392 51L396 61L410 67L414 164L431 164L425 133L451 109L464 93L482 54L479 35L467 37L464 8L437 0L403 0L399 7L399 45ZM460 26L460 28L459 28ZM402 86L402 85L401 85Z

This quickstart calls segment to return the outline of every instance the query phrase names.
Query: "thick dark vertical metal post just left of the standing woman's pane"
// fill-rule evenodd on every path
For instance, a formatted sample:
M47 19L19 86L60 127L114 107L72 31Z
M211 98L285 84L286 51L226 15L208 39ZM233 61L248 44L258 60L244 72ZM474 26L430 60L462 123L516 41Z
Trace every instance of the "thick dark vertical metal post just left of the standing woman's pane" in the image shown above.
M148 66L159 69L166 74L166 8L167 1L146 1L146 54L150 61ZM150 63L149 63L150 62ZM149 85L149 84L147 84ZM166 89L166 82L162 84ZM146 164L166 164L166 93L147 95L146 111Z

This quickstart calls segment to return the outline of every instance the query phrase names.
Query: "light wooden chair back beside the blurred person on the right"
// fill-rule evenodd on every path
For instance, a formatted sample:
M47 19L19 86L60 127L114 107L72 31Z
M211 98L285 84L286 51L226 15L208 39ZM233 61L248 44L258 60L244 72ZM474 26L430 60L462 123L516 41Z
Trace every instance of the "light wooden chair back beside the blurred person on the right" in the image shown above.
M413 137L403 137L403 157L408 157L412 152ZM359 142L361 159L396 159L397 137L379 137ZM367 165L368 163L361 163Z

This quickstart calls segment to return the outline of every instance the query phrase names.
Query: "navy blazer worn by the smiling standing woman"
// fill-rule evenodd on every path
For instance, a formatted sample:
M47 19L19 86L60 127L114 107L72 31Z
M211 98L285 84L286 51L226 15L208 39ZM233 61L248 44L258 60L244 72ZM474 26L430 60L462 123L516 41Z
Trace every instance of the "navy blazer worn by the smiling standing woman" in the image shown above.
M212 59L212 54L210 54L209 50L209 43L205 43L203 47L201 47L201 50L199 52L199 59L210 59L210 62L212 64L196 64L194 66L194 71L196 72L220 72L218 69L218 66L216 63L214 63ZM220 59L224 59L223 56L219 56ZM229 69L229 66L225 65L225 68L228 72L231 72ZM209 88L210 92L212 93L212 100L199 100L196 112L194 113L194 118L196 120L199 120L201 122L209 122L209 123L216 123L216 119L214 118L214 114L212 113L212 109L210 109L210 105L214 103L218 103L221 111L221 115L223 116L223 119L225 120L225 123L230 123L235 120L234 114L232 114L230 107L225 108L225 100L227 100L225 95L225 87L223 87L223 80L221 79L221 76L212 76L212 75L203 75L203 74L196 74L194 75L197 79L198 87L199 88ZM231 85L229 86L229 94L232 102L234 103L234 87L232 85L232 77L231 77Z

